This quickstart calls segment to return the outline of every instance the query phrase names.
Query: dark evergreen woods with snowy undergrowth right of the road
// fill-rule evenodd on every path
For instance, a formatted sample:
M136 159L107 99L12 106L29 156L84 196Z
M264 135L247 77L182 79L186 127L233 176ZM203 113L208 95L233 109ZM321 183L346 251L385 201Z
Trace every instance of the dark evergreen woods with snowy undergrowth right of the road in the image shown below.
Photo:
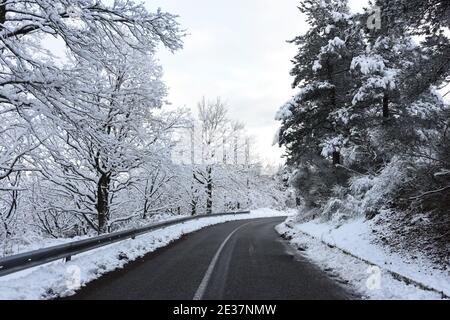
M376 219L379 241L448 264L450 2L302 1L297 95L278 112L300 220Z

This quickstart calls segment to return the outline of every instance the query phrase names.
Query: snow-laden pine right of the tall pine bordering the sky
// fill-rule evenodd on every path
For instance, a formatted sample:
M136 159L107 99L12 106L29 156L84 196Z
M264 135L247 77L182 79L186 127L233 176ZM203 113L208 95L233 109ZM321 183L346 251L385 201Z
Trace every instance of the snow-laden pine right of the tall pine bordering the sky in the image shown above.
M413 39L408 17L399 15L404 10L402 1L377 0L374 5L381 9L381 28L365 30L367 46L351 65L356 82L354 116L364 120L353 123L354 132L369 166L390 161L406 143L399 144L399 139L411 138L412 124L421 121L411 107L435 101L431 86L443 75L433 67L439 60L436 55L442 53ZM369 14L371 9L364 19ZM367 162L369 155L372 163Z

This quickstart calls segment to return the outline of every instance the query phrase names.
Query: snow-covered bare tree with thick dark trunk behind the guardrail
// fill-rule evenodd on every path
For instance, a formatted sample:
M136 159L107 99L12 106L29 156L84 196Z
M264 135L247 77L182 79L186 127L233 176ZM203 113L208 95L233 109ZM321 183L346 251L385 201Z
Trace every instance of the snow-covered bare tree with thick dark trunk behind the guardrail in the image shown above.
M54 168L44 169L44 175L78 199L75 210L105 232L110 220L118 218L113 215L115 207L123 208L115 193L133 183L133 170L152 161L152 155L160 151L159 139L165 139L177 118L166 121L155 114L166 90L160 67L148 56L131 51L105 59L96 68L82 62L77 68L73 85L89 90L78 92L77 98L85 103L74 104L73 109L89 108L90 113L72 114L70 120L76 125L64 123L58 134L44 142L61 168L56 171L59 177ZM68 175L73 179L68 180Z

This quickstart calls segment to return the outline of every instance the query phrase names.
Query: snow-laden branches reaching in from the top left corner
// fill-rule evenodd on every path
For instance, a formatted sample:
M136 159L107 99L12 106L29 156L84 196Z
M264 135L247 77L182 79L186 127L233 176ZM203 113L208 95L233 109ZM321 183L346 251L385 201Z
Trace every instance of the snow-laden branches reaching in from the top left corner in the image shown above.
M46 46L51 39L65 45L68 58L92 64L101 62L105 52L120 55L126 48L147 53L160 43L181 48L174 15L151 13L130 1L4 0L0 8L2 113L31 108L70 116L61 98L77 89L67 86L73 76L67 59Z

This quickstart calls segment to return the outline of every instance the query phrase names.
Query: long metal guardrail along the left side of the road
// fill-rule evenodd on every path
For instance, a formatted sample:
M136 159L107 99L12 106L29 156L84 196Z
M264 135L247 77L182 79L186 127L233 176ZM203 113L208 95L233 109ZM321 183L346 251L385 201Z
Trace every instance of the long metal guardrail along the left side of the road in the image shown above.
M0 259L0 277L6 276L11 273L26 270L36 266L40 266L49 262L53 262L59 259L65 259L70 261L72 256L91 251L100 247L104 247L116 242L123 240L134 239L137 236L155 231L158 229L163 229L166 227L174 226L180 223L185 223L188 221L198 220L202 218L211 217L222 217L230 215L243 215L249 214L250 211L242 212L229 212L229 213L218 213L211 215L201 215L194 217L187 217L181 219L170 220L161 223L155 223L143 228L132 229L127 231L120 231L111 234L106 234L103 236L90 238L81 241L75 241L67 244L62 244L54 247L49 247L45 249L40 249L36 251L21 253L13 255L10 257Z

